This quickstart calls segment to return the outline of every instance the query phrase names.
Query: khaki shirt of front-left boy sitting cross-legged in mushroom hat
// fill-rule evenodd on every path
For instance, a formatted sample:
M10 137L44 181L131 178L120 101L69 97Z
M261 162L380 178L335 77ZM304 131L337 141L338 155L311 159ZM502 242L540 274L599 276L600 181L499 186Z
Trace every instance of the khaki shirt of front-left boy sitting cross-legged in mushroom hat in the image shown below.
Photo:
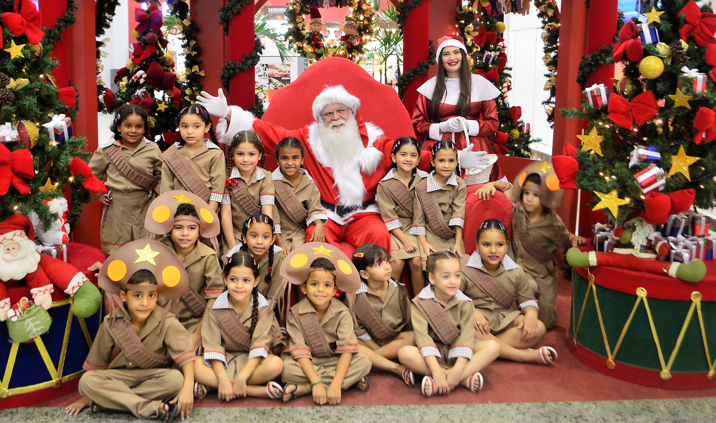
M161 307L155 308L138 335L142 344L149 351L172 358L174 363L181 367L196 358L194 344L189 333L171 313L164 319L161 331L157 330L165 313L169 312ZM114 338L110 335L107 325L110 324L112 318L129 320L125 311L118 307L105 316L105 321L100 325L95 342L92 343L87 360L82 366L85 370L139 369L134 363L127 360L122 348L115 343ZM115 358L112 358L113 356Z

